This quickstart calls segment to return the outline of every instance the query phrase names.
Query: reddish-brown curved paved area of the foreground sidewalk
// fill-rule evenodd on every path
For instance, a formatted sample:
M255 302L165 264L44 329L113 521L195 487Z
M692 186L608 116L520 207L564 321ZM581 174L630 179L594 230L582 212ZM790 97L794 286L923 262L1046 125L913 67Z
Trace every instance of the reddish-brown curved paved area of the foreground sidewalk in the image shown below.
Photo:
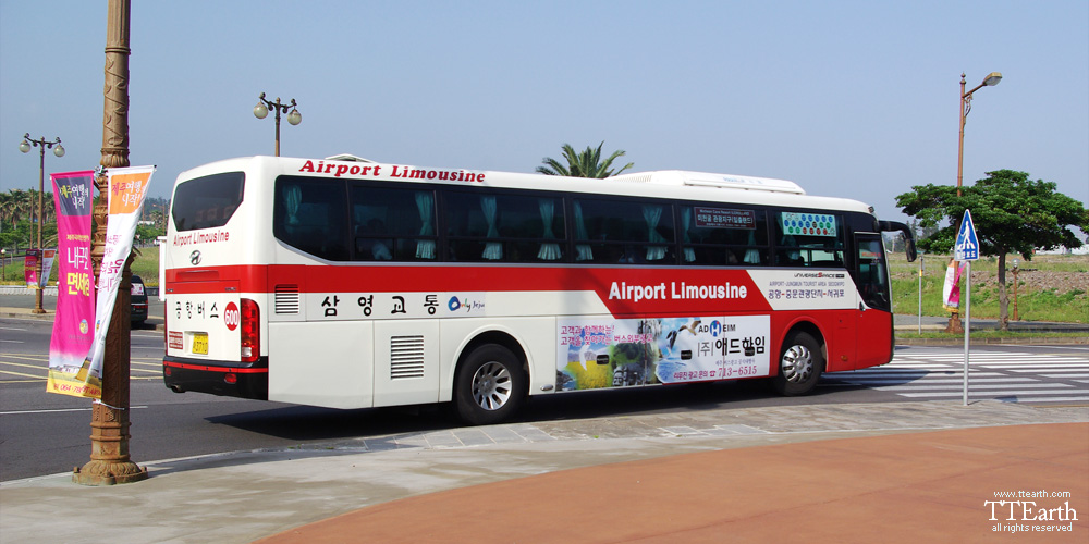
M996 492L1086 497L1087 441L1068 423L722 449L412 497L258 542L993 542L1010 512L1026 518ZM1087 503L1033 499L1025 524L1086 542ZM1043 521L1039 507L1060 509Z

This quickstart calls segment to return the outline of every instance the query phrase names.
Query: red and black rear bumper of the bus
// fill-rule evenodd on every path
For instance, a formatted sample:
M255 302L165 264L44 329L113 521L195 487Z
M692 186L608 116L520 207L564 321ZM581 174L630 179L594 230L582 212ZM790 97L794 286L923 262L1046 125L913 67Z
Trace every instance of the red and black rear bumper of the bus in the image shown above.
M237 363L235 363L237 364ZM163 384L175 393L197 392L224 397L268 400L268 360L240 367L221 361L163 357Z

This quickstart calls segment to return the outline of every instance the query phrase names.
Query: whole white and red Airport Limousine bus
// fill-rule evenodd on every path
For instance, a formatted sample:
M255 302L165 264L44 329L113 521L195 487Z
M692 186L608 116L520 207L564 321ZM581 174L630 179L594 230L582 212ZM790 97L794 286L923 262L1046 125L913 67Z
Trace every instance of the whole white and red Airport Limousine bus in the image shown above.
M882 231L913 242L780 180L225 160L174 185L166 385L452 403L476 424L604 387L766 378L805 394L892 358Z

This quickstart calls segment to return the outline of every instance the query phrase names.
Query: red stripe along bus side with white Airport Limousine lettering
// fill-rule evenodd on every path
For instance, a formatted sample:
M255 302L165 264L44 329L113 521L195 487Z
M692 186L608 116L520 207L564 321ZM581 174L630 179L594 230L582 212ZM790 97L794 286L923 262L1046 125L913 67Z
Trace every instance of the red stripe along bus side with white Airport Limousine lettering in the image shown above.
M168 295L270 293L293 285L298 293L595 292L614 314L770 311L744 269L584 268L503 265L230 265L167 271ZM632 289L629 289L629 287ZM710 290L707 298L686 289ZM742 290L744 289L744 290ZM744 296L741 296L744 293ZM678 297L678 295L681 295ZM639 300L635 300L638 297Z

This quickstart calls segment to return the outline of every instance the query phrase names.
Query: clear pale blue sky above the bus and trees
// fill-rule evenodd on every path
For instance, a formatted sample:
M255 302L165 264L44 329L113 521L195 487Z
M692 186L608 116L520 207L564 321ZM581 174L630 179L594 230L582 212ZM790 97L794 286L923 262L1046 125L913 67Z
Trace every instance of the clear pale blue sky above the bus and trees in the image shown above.
M0 0L0 190L102 145L105 0ZM1089 2L135 1L133 165L151 195L272 154L257 96L294 98L281 153L531 172L604 140L635 171L792 180L905 219L895 196L955 184L960 73L975 95L966 184L998 169L1089 202ZM48 184L48 180L47 180Z

